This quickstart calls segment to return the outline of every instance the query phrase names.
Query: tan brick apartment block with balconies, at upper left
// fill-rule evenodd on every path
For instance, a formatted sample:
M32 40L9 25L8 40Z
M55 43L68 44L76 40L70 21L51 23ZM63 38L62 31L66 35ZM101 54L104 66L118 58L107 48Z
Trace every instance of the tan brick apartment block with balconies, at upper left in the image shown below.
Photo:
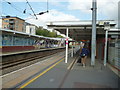
M2 18L2 28L25 32L25 20L19 17L6 16Z

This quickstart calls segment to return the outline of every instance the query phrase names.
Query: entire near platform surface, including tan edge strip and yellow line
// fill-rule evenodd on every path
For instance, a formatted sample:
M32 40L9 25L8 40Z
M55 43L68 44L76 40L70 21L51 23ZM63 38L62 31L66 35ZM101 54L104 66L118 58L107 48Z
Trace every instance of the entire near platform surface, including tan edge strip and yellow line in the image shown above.
M46 60L4 75L3 88L120 88L120 77L110 65L96 60L94 67L87 58L86 67L76 63L78 55L64 61L65 52L56 53ZM75 61L76 60L76 61ZM72 66L72 68L71 68Z

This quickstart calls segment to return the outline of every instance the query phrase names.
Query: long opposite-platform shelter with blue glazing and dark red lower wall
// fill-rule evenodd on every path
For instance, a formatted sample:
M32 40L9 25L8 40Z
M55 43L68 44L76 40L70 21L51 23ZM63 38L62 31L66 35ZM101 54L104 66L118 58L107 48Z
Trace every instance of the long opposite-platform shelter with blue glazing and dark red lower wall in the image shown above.
M0 33L0 51L3 53L65 47L65 38L50 38L8 29L0 29Z

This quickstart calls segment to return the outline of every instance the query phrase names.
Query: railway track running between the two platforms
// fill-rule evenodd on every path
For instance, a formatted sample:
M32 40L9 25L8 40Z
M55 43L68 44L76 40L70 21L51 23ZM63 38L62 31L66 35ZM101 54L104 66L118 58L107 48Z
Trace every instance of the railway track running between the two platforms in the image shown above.
M62 51L64 51L64 49L50 51L50 52L46 52L41 55L34 55L32 57L30 56L29 58L13 60L13 61L5 61L1 64L2 66L0 67L0 69L2 70L2 74L4 75L4 74L12 72L14 70L18 70L25 66L29 66L36 62L42 61L45 58L48 58L49 56L52 56L53 54L56 54L56 53L62 52Z

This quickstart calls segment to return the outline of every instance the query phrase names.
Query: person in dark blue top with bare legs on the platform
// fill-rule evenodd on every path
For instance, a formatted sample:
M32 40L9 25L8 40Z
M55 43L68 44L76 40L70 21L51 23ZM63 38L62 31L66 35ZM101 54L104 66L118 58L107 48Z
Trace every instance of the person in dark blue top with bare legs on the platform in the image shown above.
M82 44L83 47L80 48L80 56L81 56L81 63L83 65L83 67L85 67L86 64L86 58L89 54L89 50L87 48L85 48L85 44Z

